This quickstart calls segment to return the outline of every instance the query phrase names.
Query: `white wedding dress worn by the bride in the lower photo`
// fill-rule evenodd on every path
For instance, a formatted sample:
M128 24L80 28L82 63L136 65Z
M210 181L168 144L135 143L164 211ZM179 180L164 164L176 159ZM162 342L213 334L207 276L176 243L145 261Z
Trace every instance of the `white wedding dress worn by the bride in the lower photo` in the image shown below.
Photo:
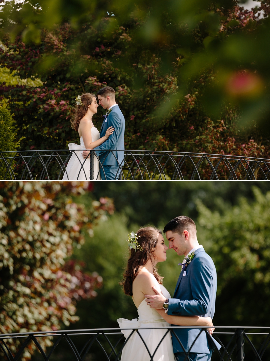
M161 292L163 293L164 297L171 298L169 292L166 290L164 286L160 284ZM138 316L139 318L134 318L132 321L129 321L125 318L119 318L117 321L119 323L119 327L121 332L124 334L125 338L127 339L128 336L131 334L132 330L128 330L129 327L132 329L138 329L140 332L143 340L145 341L151 355L155 352L156 347L158 346L159 342L165 335L167 329L166 326L171 326L167 323L163 317L160 316L155 309L150 308L147 305L145 300L141 302L138 307ZM162 329L146 329L145 327L164 327ZM127 330L123 330L127 329ZM173 346L172 346L172 339L171 333L165 336L164 340L159 345L155 356L153 358L154 361L174 361L173 355ZM143 344L140 336L137 334L136 331L132 334L130 339L128 340L127 344L123 348L121 361L150 361L149 353L145 345Z

